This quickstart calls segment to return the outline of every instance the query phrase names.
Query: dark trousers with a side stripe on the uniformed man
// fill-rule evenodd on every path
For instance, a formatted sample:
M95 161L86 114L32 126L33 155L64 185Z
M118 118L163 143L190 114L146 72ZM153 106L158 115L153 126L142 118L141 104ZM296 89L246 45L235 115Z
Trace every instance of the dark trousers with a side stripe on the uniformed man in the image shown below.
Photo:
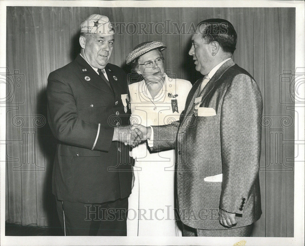
M56 201L66 236L126 236L128 197L111 202L85 204Z

